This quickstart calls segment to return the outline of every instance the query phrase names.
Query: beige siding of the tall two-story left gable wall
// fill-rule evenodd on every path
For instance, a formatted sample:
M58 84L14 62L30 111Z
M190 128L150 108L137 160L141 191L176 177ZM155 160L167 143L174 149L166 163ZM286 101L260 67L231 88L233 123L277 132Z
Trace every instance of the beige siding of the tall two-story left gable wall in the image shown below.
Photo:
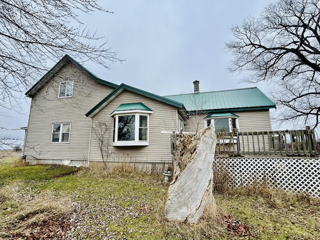
M66 80L73 80L72 97L59 98L59 83ZM23 152L27 159L86 160L91 119L85 113L112 90L72 63L64 65L32 97ZM52 123L71 123L69 143L50 142Z

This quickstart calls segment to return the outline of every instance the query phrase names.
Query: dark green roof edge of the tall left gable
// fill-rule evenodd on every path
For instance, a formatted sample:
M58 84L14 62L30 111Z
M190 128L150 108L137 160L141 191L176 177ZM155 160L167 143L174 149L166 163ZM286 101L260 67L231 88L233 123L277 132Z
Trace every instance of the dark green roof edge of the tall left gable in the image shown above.
M36 93L45 83L53 76L55 75L61 68L64 66L67 62L73 63L75 66L77 66L80 70L82 70L84 73L86 73L89 77L91 77L93 80L102 83L107 86L111 86L113 88L117 87L117 84L114 84L109 81L105 81L96 75L94 75L91 71L86 69L84 66L82 66L80 63L78 63L76 60L74 60L72 57L70 57L68 54L65 54L55 65L45 73L40 80L38 80L27 92L25 92L25 95L28 97L31 97L34 93Z

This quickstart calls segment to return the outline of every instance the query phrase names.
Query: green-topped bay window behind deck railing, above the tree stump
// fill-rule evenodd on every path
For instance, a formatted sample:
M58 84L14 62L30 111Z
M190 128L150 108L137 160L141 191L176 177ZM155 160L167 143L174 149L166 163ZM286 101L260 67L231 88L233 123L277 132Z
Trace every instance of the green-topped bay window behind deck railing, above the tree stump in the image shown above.
M231 112L211 113L206 117L206 126L212 124L215 131L232 131L237 128L237 115Z

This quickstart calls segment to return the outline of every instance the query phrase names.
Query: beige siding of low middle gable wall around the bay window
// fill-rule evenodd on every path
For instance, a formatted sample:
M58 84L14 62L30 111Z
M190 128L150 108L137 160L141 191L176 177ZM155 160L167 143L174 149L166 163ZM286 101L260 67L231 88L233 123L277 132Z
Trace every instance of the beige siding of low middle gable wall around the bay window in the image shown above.
M142 102L151 108L153 113L149 115L149 145L148 146L112 146L113 117L110 113L123 103ZM111 153L106 161L112 162L146 162L146 163L171 163L172 154L170 146L170 134L161 131L176 130L177 109L166 103L133 93L128 90L121 92L93 117L92 126L96 122L104 120L110 126L109 149ZM96 137L91 135L90 161L101 161Z

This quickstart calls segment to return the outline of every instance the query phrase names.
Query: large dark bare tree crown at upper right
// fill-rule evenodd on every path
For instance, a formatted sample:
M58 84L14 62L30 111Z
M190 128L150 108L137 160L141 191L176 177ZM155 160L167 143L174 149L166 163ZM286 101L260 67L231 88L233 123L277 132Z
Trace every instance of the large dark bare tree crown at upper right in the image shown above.
M277 0L231 28L230 70L247 71L247 82L276 83L280 120L320 123L319 22L319 0Z

